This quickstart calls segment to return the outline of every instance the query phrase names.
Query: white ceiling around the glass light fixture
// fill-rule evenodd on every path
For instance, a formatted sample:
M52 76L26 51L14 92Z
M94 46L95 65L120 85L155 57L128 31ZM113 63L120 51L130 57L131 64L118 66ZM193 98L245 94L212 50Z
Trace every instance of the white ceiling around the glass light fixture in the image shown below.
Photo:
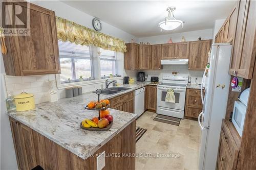
M62 2L137 37L211 29L215 20L226 18L236 3L181 0ZM176 7L174 16L185 21L184 27L161 32L158 23L168 15L166 8L170 6Z

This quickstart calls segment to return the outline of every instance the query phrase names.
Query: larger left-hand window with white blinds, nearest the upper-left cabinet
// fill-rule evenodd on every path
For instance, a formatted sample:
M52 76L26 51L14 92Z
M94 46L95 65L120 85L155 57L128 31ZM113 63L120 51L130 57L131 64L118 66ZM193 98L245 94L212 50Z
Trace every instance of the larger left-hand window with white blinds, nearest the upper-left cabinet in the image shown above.
M60 60L60 82L75 82L93 79L92 48L71 42L58 41Z

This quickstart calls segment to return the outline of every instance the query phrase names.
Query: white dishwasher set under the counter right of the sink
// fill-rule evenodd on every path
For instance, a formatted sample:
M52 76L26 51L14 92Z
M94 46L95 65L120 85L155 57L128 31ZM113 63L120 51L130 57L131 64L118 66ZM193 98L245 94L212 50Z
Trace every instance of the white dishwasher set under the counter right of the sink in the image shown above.
M134 113L139 117L144 112L145 87L135 90L134 95Z

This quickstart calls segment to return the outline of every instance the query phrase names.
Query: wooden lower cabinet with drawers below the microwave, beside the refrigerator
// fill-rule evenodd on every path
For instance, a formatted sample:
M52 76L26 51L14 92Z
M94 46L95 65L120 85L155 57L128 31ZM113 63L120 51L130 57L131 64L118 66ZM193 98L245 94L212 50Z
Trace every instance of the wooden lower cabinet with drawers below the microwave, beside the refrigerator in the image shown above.
M238 133L232 130L234 128L232 126L231 122L223 119L216 169L226 170L237 168L240 145L236 143L238 141L234 140L233 136L238 137ZM236 139L239 139L237 137Z

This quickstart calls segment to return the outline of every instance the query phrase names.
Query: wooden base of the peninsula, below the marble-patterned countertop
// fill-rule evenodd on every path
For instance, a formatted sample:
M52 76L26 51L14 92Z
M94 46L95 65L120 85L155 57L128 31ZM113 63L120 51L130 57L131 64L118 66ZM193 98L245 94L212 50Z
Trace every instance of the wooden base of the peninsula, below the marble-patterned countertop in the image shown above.
M10 118L18 169L97 169L97 154L135 154L135 120L86 160L71 153L47 137ZM127 140L129 139L129 140ZM103 169L135 169L135 157L105 157Z

